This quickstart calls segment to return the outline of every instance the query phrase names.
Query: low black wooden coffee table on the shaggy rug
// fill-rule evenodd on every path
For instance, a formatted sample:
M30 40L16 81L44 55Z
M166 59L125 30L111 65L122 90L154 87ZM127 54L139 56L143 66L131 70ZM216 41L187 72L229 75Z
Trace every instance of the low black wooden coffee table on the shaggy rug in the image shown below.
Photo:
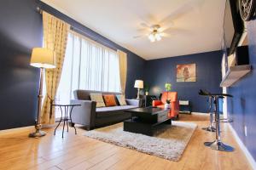
M124 122L124 131L131 133L142 133L153 136L155 128L160 123L172 124L168 117L170 110L146 107L126 110L131 113L132 118Z

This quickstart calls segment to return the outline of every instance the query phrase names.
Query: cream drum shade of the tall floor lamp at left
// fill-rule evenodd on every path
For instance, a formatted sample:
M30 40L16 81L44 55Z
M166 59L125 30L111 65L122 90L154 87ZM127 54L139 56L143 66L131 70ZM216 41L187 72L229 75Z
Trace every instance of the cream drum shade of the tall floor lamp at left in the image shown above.
M55 55L48 48L33 48L30 65L39 68L55 68Z

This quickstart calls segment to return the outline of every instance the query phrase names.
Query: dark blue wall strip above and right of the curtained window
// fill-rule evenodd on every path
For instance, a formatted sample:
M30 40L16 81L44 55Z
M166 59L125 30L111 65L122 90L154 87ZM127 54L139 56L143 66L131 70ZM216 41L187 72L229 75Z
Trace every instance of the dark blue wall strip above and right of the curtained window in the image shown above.
M136 79L143 79L145 59L141 58L137 54L132 53L126 48L119 46L119 44L116 44L115 42L108 40L108 38L103 37L102 35L96 33L95 31L90 30L90 28L83 26L76 20L73 20L67 15L57 11L55 8L51 8L46 3L43 3L43 2L38 2L38 3L40 7L44 9L44 11L49 12L49 14L55 15L61 20L65 20L71 26L74 26L76 30L79 31L79 33L83 34L84 36L90 37L96 42L100 42L104 45L107 45L109 48L120 49L124 51L128 55L127 56L127 82L126 82L126 88L125 88L125 95L127 98L135 98L137 96L137 89L133 88L133 86Z

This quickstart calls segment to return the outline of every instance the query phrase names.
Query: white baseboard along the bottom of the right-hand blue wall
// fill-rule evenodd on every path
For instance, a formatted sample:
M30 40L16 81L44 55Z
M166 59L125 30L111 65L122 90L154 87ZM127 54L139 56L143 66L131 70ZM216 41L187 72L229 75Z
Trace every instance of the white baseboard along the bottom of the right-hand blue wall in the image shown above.
M230 123L229 127L231 132L233 133L233 136L236 139L237 144L240 146L241 150L247 157L247 160L249 161L251 167L253 167L253 169L256 169L256 161L253 159L253 156L250 154L249 150L247 150L247 147L242 143L241 139L239 138L238 134L236 133L235 129L231 126Z

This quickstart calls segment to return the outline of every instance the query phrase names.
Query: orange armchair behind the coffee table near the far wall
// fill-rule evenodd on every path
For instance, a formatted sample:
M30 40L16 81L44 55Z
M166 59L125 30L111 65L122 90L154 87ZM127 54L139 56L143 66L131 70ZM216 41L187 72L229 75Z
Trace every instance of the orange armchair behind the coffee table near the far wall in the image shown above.
M152 106L164 108L166 99L171 99L171 110L169 117L178 117L179 105L177 100L177 92L163 92L160 100L153 100Z

